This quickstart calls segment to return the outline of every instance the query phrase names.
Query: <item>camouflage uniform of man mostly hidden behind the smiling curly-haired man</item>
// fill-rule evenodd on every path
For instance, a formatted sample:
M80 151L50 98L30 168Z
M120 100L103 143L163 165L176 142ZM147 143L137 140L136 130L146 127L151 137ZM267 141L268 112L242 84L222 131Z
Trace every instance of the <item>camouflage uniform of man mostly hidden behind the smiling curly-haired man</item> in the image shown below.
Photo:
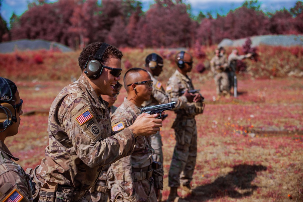
M111 116L117 109L114 105L107 108L109 115ZM96 184L89 189L91 193L91 201L92 202L107 202L110 200L110 189L106 184L106 174L110 165L106 165L103 167L102 172L96 182Z

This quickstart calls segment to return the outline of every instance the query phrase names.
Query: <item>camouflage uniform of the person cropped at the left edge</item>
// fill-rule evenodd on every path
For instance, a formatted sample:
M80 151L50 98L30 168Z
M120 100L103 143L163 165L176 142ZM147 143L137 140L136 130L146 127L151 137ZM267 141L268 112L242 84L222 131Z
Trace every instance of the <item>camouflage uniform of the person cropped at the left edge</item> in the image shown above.
M33 202L28 175L11 159L19 160L0 140L0 201L14 201L14 198L18 201L18 197L23 197L23 202Z

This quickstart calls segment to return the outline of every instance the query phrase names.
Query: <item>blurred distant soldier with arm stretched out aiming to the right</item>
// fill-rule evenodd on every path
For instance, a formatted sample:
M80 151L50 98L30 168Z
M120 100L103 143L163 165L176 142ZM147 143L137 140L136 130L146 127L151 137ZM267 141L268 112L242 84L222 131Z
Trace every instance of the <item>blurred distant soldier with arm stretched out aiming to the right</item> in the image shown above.
M243 60L244 58L250 58L252 56L251 53L246 55L239 55L239 51L235 48L231 51L231 54L228 55L228 80L229 80L229 91L231 87L234 87L234 75L236 73L237 61ZM235 90L235 89L234 89Z

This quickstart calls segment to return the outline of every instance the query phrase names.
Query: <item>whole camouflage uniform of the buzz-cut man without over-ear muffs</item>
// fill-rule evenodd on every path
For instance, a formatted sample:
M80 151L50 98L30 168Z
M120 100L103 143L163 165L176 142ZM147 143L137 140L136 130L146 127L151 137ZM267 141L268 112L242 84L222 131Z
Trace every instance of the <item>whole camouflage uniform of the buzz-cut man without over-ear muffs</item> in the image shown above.
M123 127L132 125L140 114L140 108L124 98L124 102L111 116L112 127L123 123ZM125 130L125 129L124 129ZM112 201L157 201L153 184L151 163L154 150L150 136L138 136L134 152L111 164L115 181L110 183Z

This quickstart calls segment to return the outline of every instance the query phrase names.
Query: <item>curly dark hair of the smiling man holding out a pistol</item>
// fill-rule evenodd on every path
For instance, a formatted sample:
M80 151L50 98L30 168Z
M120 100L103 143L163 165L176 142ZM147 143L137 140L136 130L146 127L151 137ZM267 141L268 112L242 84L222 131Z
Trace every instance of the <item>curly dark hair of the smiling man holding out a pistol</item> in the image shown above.
M95 42L95 43L91 43L89 45L87 45L85 48L83 48L82 52L80 53L79 57L78 57L78 64L81 68L81 71L84 70L85 64L87 61L91 61L91 60L96 60L94 57L89 57L90 55L95 56L96 52L98 51L98 49L100 48L100 46L102 45L102 42ZM109 45L106 49L105 52L102 56L102 60L99 61L102 65L105 64L105 62L110 58L117 58L117 59L122 59L122 52L118 50L118 48L116 48L113 45ZM89 57L89 58L88 58Z

